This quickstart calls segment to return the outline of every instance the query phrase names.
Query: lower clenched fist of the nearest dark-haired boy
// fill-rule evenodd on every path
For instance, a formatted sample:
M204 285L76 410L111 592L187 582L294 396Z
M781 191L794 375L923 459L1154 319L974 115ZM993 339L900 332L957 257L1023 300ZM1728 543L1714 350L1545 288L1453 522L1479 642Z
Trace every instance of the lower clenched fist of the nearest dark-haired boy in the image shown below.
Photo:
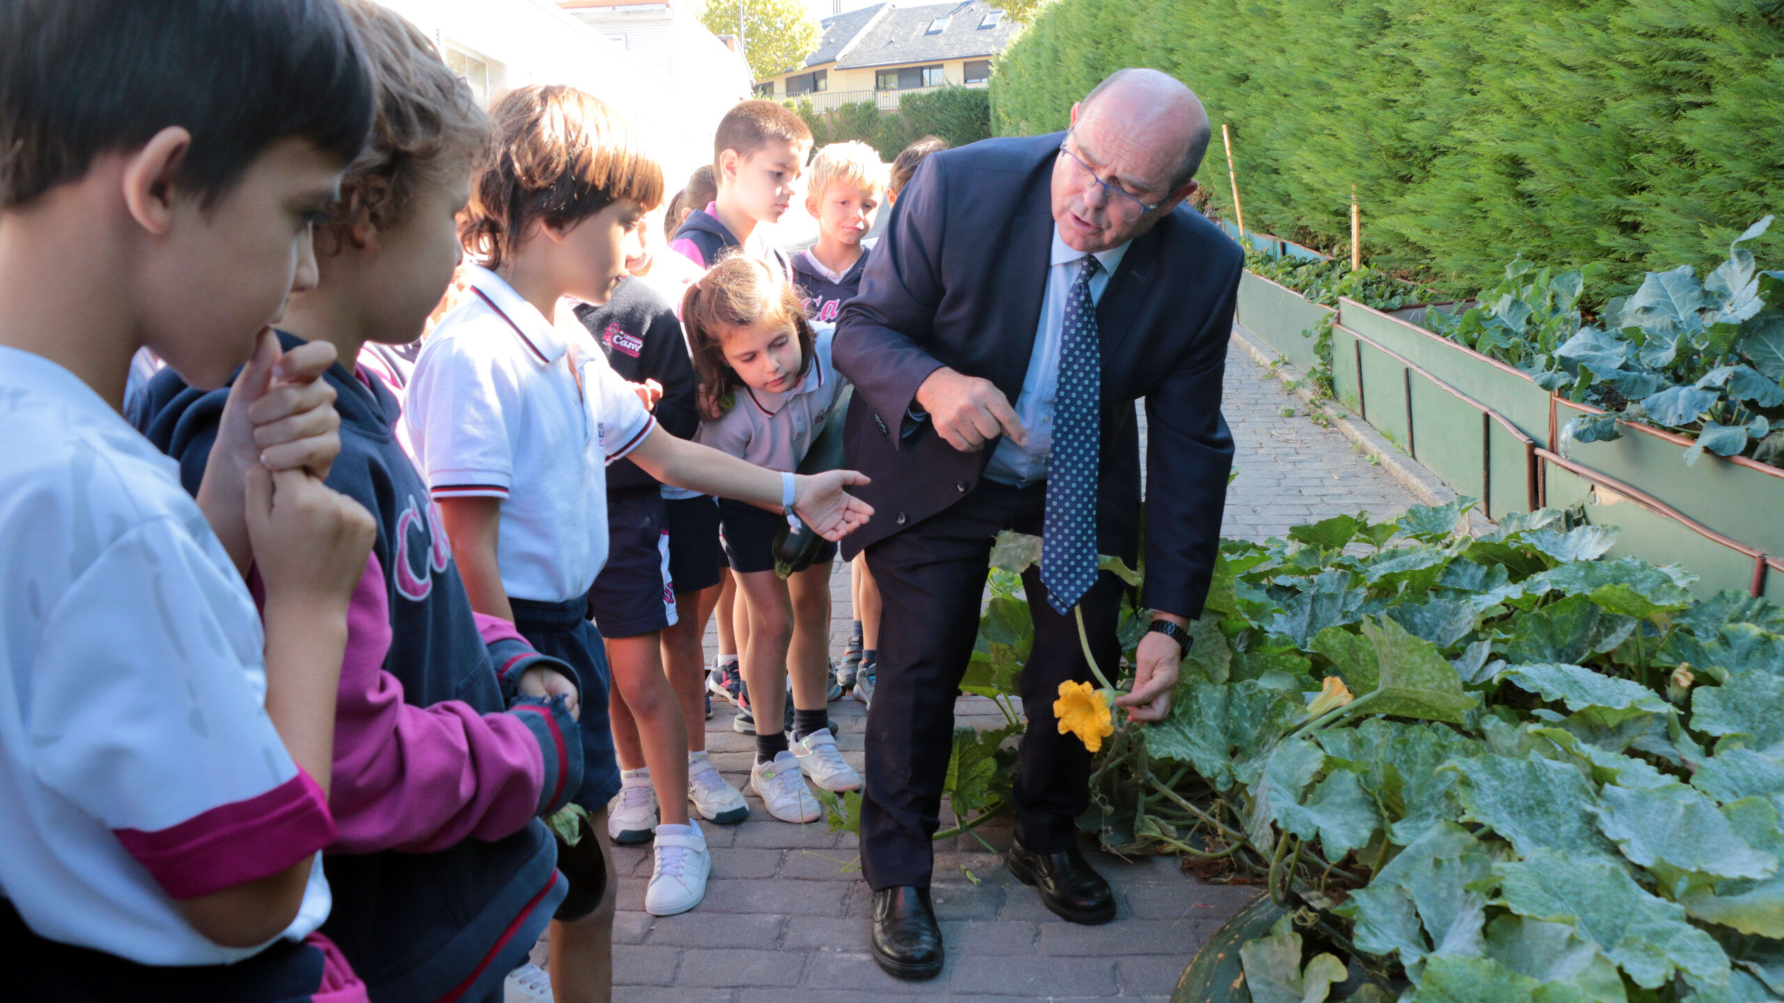
M371 512L303 469L248 469L248 539L275 601L346 610L378 526Z

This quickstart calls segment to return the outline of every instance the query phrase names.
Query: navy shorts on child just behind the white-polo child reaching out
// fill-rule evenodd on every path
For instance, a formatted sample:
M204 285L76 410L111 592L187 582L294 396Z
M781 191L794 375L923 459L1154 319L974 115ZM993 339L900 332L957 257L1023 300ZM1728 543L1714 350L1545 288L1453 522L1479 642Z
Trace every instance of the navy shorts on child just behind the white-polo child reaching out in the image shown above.
M655 487L607 496L607 566L589 587L601 637L637 637L669 626L669 510Z

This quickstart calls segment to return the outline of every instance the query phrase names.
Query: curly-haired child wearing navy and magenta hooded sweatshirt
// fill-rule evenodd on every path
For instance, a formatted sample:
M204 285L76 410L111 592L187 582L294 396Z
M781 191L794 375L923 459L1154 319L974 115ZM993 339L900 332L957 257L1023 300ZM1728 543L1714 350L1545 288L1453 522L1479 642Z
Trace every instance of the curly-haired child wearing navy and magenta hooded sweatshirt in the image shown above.
M396 398L348 369L366 341L421 334L457 264L453 214L487 123L414 25L369 0L346 5L373 61L376 125L318 228L319 282L293 298L280 334L287 350L326 341L344 361L325 373L341 412L328 485L378 523L335 705L325 930L376 1003L500 999L566 898L539 816L582 780L578 694L567 666L471 610L428 485L396 441ZM150 384L146 434L187 489L227 394L173 371Z

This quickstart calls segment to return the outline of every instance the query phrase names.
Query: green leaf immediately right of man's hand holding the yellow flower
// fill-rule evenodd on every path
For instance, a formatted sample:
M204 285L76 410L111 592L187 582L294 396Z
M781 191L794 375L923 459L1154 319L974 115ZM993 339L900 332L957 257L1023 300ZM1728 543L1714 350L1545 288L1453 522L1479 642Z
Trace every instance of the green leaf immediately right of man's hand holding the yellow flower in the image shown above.
M1302 719L1297 692L1258 680L1218 685L1190 678L1177 685L1170 716L1140 734L1154 758L1190 766L1215 791L1226 791L1235 780L1254 782L1263 773L1261 753Z

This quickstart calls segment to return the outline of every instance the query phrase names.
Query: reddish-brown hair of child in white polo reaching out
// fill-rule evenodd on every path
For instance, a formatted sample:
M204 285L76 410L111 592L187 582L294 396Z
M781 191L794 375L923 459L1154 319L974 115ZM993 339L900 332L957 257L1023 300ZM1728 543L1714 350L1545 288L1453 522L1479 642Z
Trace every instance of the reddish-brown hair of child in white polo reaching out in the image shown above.
M533 223L571 227L628 198L664 200L662 166L601 98L562 84L508 91L489 112L496 141L471 175L458 220L464 250L500 268Z

